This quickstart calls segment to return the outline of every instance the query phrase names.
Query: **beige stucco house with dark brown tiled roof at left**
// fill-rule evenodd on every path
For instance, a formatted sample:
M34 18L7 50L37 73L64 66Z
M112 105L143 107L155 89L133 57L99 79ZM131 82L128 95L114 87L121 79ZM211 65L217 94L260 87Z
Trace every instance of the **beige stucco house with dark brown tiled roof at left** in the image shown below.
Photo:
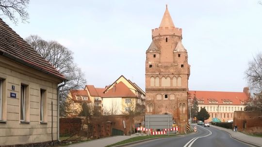
M64 80L0 19L0 146L58 140L58 84Z

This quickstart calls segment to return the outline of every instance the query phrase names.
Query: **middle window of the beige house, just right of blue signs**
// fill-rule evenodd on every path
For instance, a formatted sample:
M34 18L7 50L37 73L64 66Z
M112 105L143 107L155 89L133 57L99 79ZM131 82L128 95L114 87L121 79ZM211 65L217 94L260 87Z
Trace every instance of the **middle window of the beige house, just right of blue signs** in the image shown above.
M21 85L21 95L20 95L20 120L21 121L26 121L26 114L27 114L27 107L29 102L28 101L28 93L27 93L27 86L26 85Z

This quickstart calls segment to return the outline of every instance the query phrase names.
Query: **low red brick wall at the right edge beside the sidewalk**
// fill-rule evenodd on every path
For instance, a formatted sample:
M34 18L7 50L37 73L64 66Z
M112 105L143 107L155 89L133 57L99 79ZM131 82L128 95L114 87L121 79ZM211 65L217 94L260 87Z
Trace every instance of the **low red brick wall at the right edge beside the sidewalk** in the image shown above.
M239 131L249 133L262 133L262 113L235 111L233 126L237 125Z

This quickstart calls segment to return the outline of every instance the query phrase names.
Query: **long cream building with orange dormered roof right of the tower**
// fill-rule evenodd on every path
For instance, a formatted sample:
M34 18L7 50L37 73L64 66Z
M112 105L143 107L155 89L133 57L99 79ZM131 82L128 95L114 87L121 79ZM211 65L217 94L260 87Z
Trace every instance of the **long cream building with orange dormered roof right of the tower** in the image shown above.
M207 121L218 118L222 122L233 120L234 111L244 111L250 97L248 88L244 88L243 92L189 90L188 94L189 101L197 99L198 111L205 108L209 112Z

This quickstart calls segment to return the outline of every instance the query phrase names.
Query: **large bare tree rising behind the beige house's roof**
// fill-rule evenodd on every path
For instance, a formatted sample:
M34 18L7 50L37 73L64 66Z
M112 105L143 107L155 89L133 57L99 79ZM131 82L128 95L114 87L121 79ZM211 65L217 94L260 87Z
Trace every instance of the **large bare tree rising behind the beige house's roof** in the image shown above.
M66 85L60 89L60 115L66 116L66 98L70 89L84 88L86 80L80 68L73 61L73 53L56 41L45 41L37 35L31 35L25 39L55 69L64 74Z

